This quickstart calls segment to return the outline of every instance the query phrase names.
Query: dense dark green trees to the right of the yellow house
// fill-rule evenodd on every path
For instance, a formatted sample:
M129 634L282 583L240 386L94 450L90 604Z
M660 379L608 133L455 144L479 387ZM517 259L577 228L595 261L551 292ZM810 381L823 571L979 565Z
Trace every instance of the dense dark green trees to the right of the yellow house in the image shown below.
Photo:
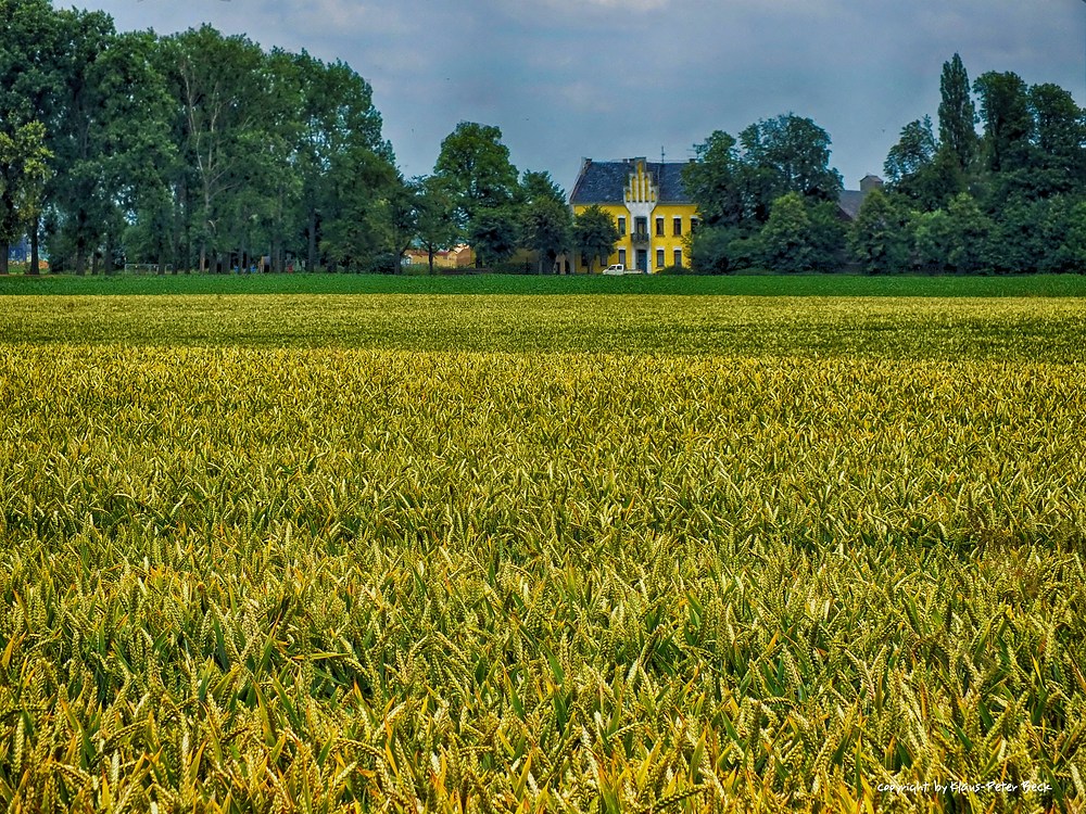
M943 65L931 115L901 128L847 222L830 138L793 114L737 138L696 145L684 180L702 213L695 270L869 274L1066 272L1086 268L1086 118L1052 84L1010 72L970 84L961 58ZM980 132L977 125L981 125Z

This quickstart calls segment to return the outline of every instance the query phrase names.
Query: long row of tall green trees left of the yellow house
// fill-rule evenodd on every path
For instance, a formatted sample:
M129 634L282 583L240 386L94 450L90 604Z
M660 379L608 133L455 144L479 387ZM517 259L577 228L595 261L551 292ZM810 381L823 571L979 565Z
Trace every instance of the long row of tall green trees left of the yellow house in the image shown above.
M0 0L0 271L395 271L460 240L490 262L568 247L565 193L463 123L406 179L342 62L211 26L118 33L103 12Z

